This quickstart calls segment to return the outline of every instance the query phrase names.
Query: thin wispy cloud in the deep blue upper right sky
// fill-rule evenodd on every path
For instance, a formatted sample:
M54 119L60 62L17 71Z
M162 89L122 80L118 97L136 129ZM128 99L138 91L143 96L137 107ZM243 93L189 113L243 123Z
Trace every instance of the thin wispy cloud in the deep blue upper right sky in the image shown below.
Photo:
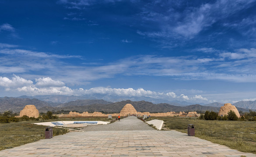
M180 4L173 1L148 3L142 8L140 17L142 20L154 22L159 31L137 31L137 33L150 38L165 38L165 41L168 40L167 43L172 43L173 38L192 39L217 21L251 7L253 2L255 0L216 0L209 3L201 2L202 5L196 7L184 7L182 11L176 9ZM156 7L159 9L155 9Z

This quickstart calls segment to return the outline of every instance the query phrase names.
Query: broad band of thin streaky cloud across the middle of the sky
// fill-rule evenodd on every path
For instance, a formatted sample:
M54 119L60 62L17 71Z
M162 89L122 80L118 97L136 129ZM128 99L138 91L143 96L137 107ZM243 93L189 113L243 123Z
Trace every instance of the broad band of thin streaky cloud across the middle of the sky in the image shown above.
M4 46L12 45L4 44ZM101 78L113 78L116 75L168 76L177 80L256 82L255 48L240 48L234 52L212 48L201 48L196 51L203 53L215 51L215 57L139 55L108 63L85 62L73 65L63 59L80 60L81 56L5 48L0 49L0 54L3 54L0 59L5 61L0 63L0 72L49 76L60 78L66 83L77 84Z

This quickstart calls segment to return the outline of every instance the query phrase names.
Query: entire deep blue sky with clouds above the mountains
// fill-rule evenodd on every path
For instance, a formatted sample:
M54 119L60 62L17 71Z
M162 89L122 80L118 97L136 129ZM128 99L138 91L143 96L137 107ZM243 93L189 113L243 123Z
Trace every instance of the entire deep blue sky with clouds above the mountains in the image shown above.
M0 0L0 96L256 100L256 0Z

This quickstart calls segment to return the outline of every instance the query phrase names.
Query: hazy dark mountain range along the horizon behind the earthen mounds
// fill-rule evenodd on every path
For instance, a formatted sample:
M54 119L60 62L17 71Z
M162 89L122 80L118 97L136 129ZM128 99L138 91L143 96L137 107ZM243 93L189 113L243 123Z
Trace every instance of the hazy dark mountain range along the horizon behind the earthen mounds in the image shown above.
M69 98L65 98L64 96L57 97L54 99L54 97L42 97L41 99L54 99L56 101L67 101L70 99L75 99L75 96L71 96ZM26 105L35 105L37 109L39 109L39 112L46 112L46 111L60 111L60 110L66 110L66 111L79 111L79 112L105 112L105 113L119 113L120 110L125 106L127 103L130 103L134 106L134 108L138 112L150 112L150 113L158 113L158 112L188 112L188 111L214 111L218 112L220 107L224 104L214 102L207 105L189 105L189 106L182 106L177 102L173 102L173 104L168 103L158 103L154 104L152 102L147 101L120 101L120 102L108 102L103 99L79 99L75 101L69 101L65 103L57 103L57 102L50 102L50 101L41 101L39 99L35 99L31 97L30 99L26 96L21 96L19 98L13 98L13 97L4 97L0 98L0 112L4 112L5 110L12 110L13 112L20 112ZM183 102L184 103L184 102ZM240 104L237 102L237 108L239 111L248 112L249 108L242 108L241 106L247 106L252 109L256 109L255 106L256 101L252 102L241 102ZM251 106L250 106L251 105ZM253 106L254 105L254 106Z

